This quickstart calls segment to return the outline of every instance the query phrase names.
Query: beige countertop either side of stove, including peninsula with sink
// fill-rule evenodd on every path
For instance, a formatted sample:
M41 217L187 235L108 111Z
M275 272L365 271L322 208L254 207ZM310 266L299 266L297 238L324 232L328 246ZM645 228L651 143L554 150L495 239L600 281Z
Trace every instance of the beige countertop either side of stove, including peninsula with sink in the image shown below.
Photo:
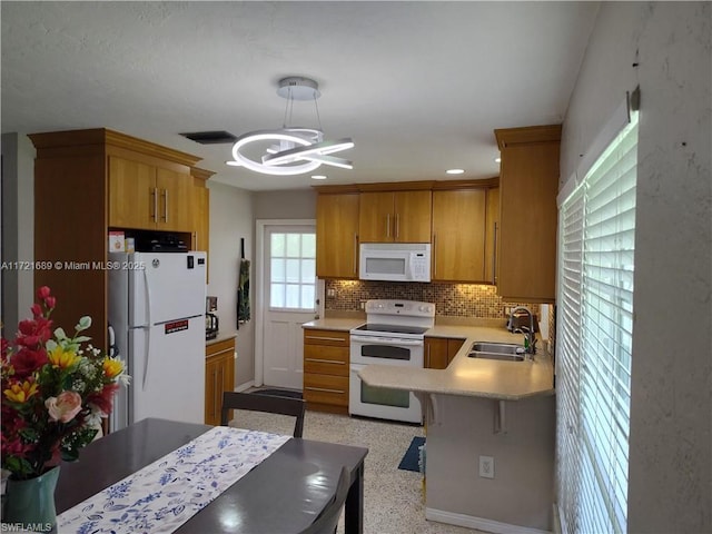
M364 323L357 318L325 318L306 323L304 328L348 330ZM486 326L438 325L425 333L426 337L465 339L463 347L446 369L367 365L358 375L369 386L415 393L435 393L518 400L532 396L554 394L554 370L550 356L542 349L533 362L503 362L469 358L474 342L522 344L522 334L511 334L497 322L482 322ZM541 346L541 340L540 340Z

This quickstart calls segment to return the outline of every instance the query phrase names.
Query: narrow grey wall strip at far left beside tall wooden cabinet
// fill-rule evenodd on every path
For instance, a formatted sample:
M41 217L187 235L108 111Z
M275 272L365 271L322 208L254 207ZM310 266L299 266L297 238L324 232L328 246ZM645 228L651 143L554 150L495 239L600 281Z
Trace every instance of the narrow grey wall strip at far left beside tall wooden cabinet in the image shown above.
M34 147L27 136L2 135L2 261L34 259ZM3 335L14 337L18 320L30 317L31 269L2 270ZM7 326L6 326L7 325Z

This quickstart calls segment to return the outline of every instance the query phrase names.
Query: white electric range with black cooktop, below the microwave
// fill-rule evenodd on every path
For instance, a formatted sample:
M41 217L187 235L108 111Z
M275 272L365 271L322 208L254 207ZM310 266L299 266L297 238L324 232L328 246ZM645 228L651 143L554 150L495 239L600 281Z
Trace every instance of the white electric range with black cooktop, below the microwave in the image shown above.
M366 324L350 334L348 413L382 419L423 423L413 392L372 387L358 376L366 365L423 368L425 333L435 324L435 305L414 300L366 301Z

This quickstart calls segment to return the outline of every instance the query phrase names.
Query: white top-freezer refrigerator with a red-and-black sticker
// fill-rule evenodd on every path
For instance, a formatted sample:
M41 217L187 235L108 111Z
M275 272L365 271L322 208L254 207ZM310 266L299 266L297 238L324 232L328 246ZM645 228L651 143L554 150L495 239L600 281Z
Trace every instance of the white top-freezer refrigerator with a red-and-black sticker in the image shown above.
M204 423L206 253L118 253L108 265L112 349L131 376L111 428L146 417Z

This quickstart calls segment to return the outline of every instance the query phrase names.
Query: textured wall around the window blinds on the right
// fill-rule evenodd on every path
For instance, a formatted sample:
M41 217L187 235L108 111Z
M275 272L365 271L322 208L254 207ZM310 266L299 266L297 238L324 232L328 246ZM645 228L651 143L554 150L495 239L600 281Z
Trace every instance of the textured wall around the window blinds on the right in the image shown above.
M564 121L562 180L640 85L629 474L635 533L712 532L711 8L602 3Z

